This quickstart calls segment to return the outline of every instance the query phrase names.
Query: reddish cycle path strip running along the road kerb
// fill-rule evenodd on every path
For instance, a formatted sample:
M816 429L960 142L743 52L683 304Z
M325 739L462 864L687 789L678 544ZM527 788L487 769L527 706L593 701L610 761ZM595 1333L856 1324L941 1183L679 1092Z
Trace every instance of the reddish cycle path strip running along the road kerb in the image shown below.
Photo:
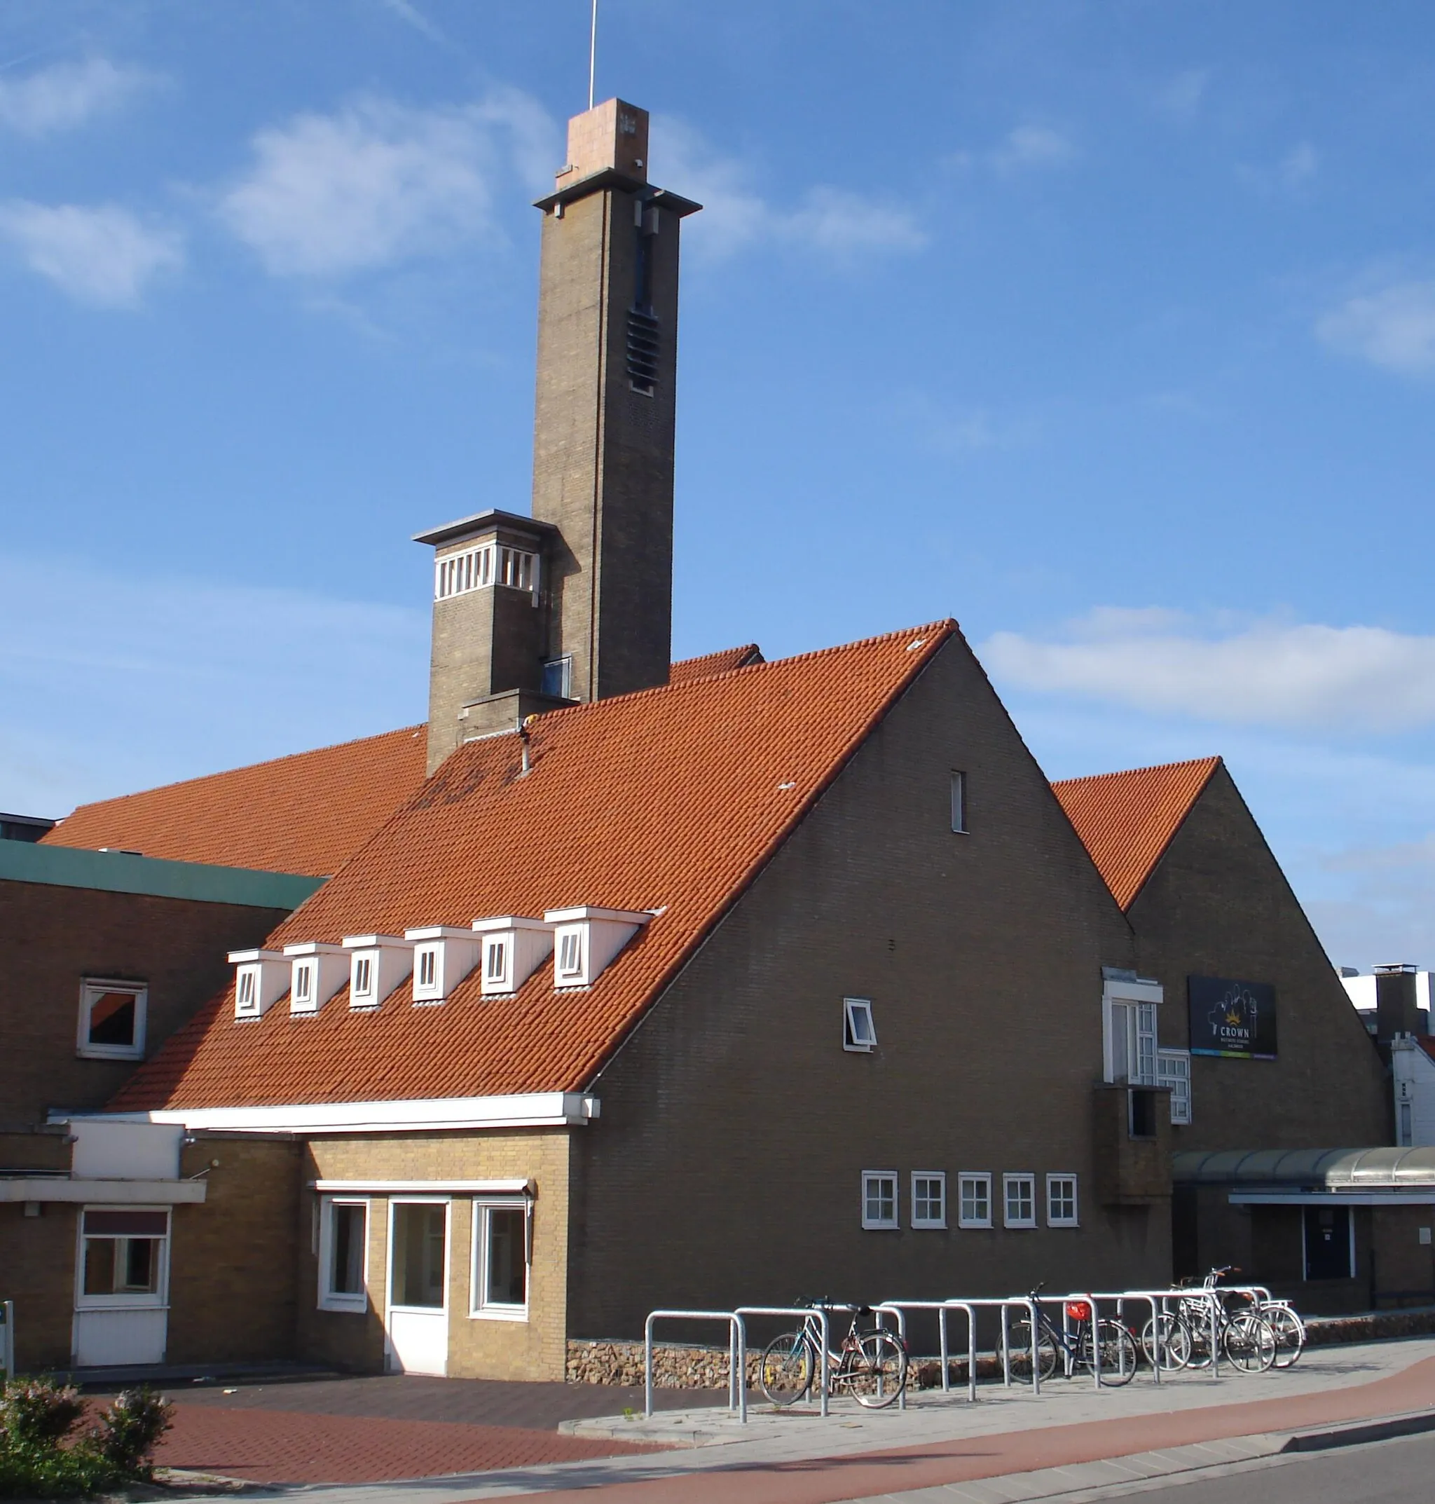
M1008 1472L1100 1462L1134 1451L1429 1408L1435 1408L1435 1358L1384 1379L1316 1394L967 1436L890 1451L749 1463L636 1483L555 1489L543 1495L543 1504L727 1504L731 1499L742 1504L838 1504L841 1499L996 1478Z

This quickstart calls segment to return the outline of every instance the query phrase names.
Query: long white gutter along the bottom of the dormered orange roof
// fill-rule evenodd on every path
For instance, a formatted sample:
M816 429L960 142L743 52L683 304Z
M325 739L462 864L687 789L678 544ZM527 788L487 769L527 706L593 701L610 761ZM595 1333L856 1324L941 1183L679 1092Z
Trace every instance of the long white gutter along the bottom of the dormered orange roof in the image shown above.
M295 1102L281 1107L179 1107L149 1113L68 1113L66 1119L182 1123L226 1133L451 1133L460 1128L570 1128L599 1116L596 1096L433 1096L397 1102Z

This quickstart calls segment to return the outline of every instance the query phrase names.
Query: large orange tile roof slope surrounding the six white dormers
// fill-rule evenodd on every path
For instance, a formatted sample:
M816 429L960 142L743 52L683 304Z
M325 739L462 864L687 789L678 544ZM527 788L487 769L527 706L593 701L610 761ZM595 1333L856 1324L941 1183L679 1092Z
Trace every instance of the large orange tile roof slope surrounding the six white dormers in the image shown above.
M594 904L656 917L587 991L552 969L436 1008L405 984L375 1012L340 993L236 1023L233 987L114 1098L116 1110L581 1090L955 632L936 623L540 716L460 747L266 942L337 942Z

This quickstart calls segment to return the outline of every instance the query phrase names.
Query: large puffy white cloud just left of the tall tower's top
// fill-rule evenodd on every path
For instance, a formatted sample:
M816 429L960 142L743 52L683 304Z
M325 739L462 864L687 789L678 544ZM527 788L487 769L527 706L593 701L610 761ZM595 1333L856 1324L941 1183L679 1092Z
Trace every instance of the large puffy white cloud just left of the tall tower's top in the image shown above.
M344 277L502 239L495 188L551 182L561 155L543 108L517 90L412 110L360 99L253 140L254 162L220 220L280 277Z

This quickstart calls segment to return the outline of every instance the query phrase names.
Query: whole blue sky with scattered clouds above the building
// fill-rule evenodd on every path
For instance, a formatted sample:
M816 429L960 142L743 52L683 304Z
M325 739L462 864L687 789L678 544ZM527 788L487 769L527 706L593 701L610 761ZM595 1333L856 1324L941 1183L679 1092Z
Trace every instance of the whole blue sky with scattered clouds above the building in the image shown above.
M414 722L526 510L587 0L0 9L0 808ZM602 0L684 229L675 651L955 615L1435 963L1427 0Z

